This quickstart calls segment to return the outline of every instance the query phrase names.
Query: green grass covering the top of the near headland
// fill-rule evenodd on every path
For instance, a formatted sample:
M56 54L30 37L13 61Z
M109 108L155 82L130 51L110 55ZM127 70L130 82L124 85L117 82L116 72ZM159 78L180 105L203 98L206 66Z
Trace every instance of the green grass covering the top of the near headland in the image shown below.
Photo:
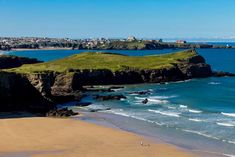
M9 72L37 73L44 71L66 72L71 69L109 69L119 71L124 69L160 69L170 68L180 60L197 55L193 50L151 56L125 56L111 53L81 53L55 61L23 65L8 69Z

